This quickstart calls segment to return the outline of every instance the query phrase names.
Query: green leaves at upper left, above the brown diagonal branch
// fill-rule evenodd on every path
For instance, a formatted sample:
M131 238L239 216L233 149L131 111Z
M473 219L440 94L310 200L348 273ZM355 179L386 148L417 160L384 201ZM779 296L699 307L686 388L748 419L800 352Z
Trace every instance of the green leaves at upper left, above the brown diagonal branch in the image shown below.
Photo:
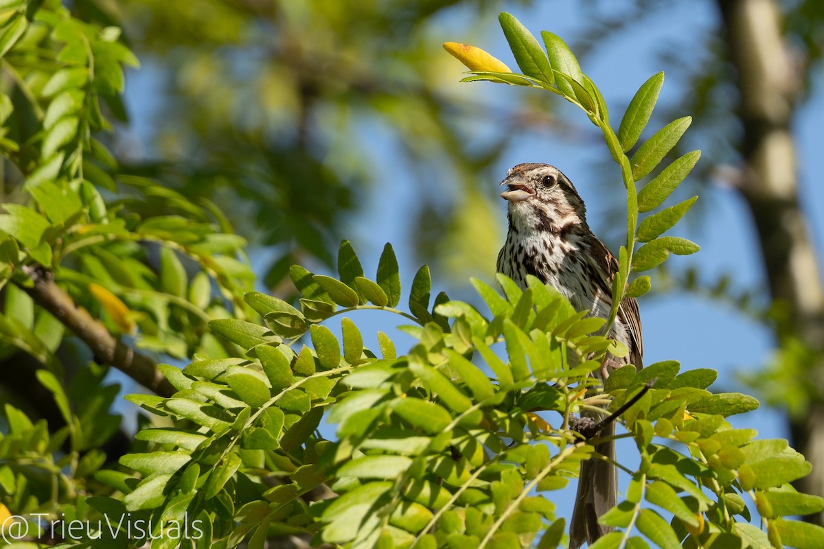
M15 2L8 10L0 31L10 76L0 89L0 152L21 193L20 203L5 202L0 212L0 286L26 286L26 270L40 265L138 347L178 358L230 352L205 327L250 312L241 299L253 279L238 255L245 241L213 205L119 174L95 137L111 127L104 112L123 113L124 65L138 64L119 29L79 21L59 2ZM157 201L164 215L147 207ZM19 313L10 307L0 319L7 326L2 348L26 351L59 372L52 355L59 337L44 330L54 319L38 309L21 324Z

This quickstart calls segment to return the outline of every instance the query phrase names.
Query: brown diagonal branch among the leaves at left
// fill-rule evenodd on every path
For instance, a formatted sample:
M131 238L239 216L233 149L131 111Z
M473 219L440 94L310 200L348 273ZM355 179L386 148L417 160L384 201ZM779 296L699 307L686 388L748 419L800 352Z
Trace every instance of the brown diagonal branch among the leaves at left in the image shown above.
M171 397L176 389L166 380L157 364L114 337L86 309L75 305L71 296L54 283L54 275L44 268L26 268L33 286L20 286L37 305L54 315L80 337L101 364L115 366L125 375L162 397Z

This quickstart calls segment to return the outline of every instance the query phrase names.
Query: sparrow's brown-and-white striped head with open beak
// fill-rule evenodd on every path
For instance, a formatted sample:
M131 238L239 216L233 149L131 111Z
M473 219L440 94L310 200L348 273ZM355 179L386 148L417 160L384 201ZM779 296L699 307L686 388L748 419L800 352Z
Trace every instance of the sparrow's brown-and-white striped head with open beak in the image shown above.
M518 164L501 184L507 186L501 198L509 202L509 219L517 225L557 232L569 224L586 223L583 200L555 166Z

